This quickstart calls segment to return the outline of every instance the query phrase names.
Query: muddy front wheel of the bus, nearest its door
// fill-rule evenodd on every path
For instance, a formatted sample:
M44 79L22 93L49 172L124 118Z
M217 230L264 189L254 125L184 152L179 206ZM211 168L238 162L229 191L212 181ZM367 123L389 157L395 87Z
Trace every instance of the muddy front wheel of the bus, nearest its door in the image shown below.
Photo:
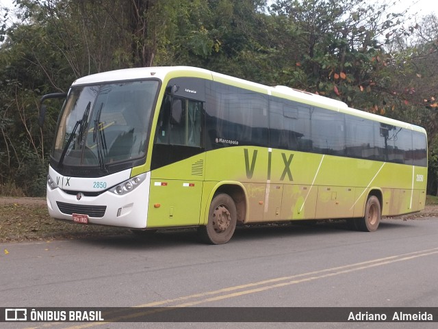
M226 244L235 231L237 209L228 194L218 194L211 200L208 222L198 227L198 235L207 244Z

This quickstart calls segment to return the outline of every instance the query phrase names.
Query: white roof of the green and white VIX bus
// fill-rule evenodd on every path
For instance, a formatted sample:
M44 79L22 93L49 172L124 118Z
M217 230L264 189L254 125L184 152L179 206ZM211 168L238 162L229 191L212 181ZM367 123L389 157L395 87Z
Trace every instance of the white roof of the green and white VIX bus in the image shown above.
M161 81L166 81L166 79L169 79L169 76L198 77L212 81L218 81L218 82L234 85L235 87L240 87L248 90L253 90L255 92L260 92L262 94L287 98L293 101L300 101L308 105L325 107L327 109L340 111L345 114L352 114L353 116L359 116L361 118L376 120L386 124L391 124L406 129L420 131L423 133L426 132L424 128L416 126L415 124L409 124L407 122L394 120L384 116L378 116L376 114L371 114L369 112L361 111L359 109L353 109L351 107L348 107L346 103L342 101L337 101L333 98L312 94L310 92L305 92L302 90L296 90L293 88L289 88L285 85L277 85L275 87L269 87L267 85L262 85L260 83L246 81L244 79L231 77L229 75L223 75L221 73L215 73L210 70L205 70L203 68L195 68L191 66L161 66L161 67L155 66L155 67L147 67L147 68L125 68L120 70L112 70L103 73L96 73L94 75L88 75L86 77L81 77L77 79L75 82L73 82L72 85L88 85L88 84L103 83L103 82L129 81L129 80L148 79L148 78L155 78Z

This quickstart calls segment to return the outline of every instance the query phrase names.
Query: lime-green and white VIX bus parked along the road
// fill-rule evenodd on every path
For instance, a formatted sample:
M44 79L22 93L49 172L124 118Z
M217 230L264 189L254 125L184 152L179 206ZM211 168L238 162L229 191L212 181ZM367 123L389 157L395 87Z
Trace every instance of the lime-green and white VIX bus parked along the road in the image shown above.
M51 217L209 244L237 225L424 209L426 131L285 86L201 68L129 68L77 79L62 97L47 176Z

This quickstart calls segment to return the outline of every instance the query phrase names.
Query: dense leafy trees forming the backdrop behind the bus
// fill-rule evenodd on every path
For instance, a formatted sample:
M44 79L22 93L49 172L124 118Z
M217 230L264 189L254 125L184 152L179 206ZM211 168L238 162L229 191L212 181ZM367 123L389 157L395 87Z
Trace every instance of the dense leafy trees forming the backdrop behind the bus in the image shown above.
M61 106L83 75L191 65L426 127L438 181L438 21L364 0L15 0L0 12L0 185L43 195ZM436 151L436 152L435 152ZM436 193L437 185L429 184Z

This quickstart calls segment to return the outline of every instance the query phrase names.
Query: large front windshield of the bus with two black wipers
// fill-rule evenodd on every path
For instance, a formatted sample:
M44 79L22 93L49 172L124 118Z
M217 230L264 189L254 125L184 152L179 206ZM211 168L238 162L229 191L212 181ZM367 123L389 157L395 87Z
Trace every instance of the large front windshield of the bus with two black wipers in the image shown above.
M57 127L59 166L105 166L146 155L158 81L73 86Z

